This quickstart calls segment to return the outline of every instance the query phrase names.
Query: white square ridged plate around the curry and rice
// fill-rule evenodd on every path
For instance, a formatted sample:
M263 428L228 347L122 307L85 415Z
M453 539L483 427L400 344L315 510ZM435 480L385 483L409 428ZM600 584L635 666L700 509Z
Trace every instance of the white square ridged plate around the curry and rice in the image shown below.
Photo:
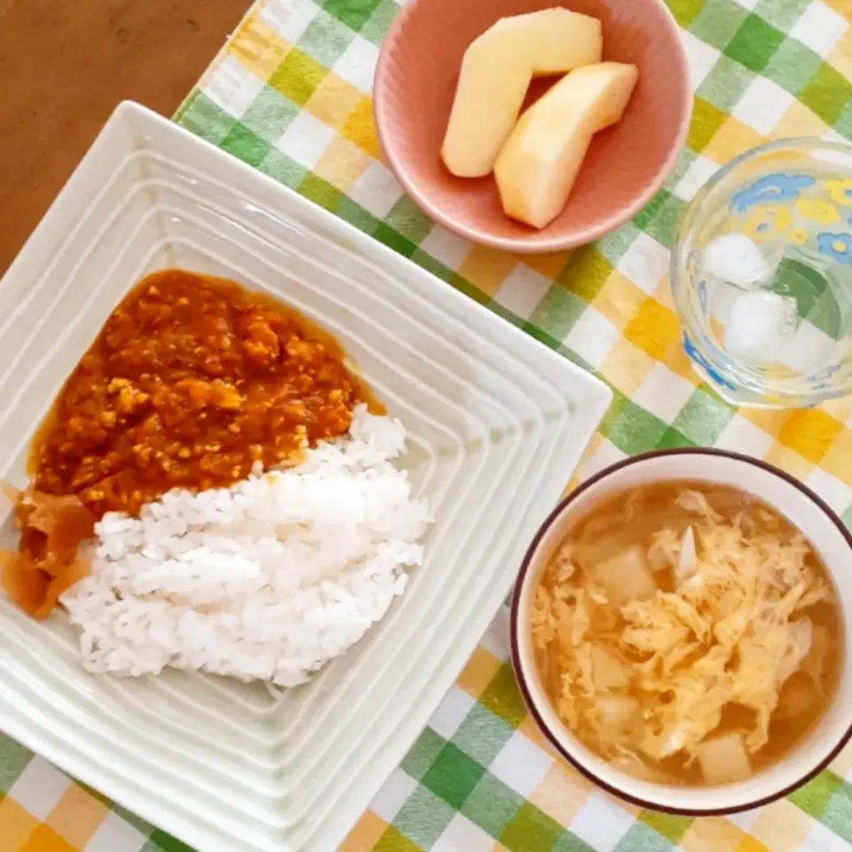
M280 296L343 343L409 432L436 522L383 623L285 698L85 675L61 614L0 600L0 728L197 848L329 852L509 592L611 394L405 258L174 124L119 106L0 284L0 476L114 305L182 266ZM12 544L12 525L4 527Z

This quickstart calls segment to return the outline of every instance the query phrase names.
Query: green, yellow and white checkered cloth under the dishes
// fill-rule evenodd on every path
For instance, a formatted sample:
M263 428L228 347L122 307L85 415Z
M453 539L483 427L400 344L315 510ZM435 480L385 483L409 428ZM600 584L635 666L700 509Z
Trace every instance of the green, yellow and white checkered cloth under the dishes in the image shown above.
M683 202L722 163L769 138L852 138L852 0L668 3L696 90L688 146L633 222L570 255L471 246L400 192L370 101L393 0L257 3L177 121L603 376L615 402L580 477L653 447L730 447L800 477L852 525L852 398L735 411L691 372L666 278ZM502 614L343 852L852 849L852 749L787 800L738 817L630 808L554 758L507 659ZM0 736L0 852L184 848Z

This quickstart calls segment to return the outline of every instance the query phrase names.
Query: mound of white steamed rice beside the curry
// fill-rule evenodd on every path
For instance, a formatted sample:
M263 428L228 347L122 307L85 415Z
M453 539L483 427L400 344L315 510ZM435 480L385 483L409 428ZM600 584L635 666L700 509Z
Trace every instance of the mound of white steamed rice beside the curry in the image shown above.
M401 423L355 412L301 465L228 489L177 489L95 528L91 575L61 598L83 666L194 669L295 686L359 641L422 564L429 522L391 463Z

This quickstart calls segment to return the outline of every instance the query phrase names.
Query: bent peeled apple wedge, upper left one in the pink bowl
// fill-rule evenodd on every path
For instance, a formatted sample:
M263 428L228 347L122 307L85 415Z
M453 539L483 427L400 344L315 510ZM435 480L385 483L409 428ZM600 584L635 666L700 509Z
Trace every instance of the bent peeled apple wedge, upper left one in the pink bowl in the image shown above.
M501 18L461 59L441 158L458 177L482 177L517 122L535 75L601 61L601 22L567 9Z

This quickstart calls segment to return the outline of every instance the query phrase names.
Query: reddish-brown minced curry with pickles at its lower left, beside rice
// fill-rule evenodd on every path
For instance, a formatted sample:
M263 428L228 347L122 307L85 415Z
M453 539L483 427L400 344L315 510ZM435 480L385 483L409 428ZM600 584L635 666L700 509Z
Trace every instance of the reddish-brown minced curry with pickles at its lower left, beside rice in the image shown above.
M171 488L233 485L336 438L367 390L297 312L232 281L166 270L139 282L59 393L20 495L5 590L44 616L84 572L77 544L107 511Z

